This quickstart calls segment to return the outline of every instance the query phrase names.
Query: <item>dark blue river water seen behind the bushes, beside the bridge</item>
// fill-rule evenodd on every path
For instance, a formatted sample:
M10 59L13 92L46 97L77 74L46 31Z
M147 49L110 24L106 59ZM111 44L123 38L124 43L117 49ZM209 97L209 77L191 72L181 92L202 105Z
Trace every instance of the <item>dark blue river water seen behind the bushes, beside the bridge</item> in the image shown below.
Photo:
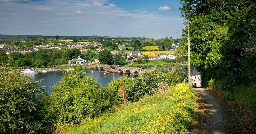
M87 69L86 76L93 76L95 80L97 80L98 83L102 84L103 86L108 86L108 83L112 81L114 78L119 79L121 77L124 77L127 75L128 78L135 78L135 75L130 74L121 74L121 73L110 73L106 74L104 76L104 71L97 70L97 69ZM91 71L102 71L102 72L91 72ZM24 74L26 76L30 76L34 78L34 82L44 79L41 83L38 84L38 86L45 86L43 88L49 89L49 93L52 93L51 86L57 84L59 80L61 80L61 77L63 76L61 71L49 71L46 73L39 72L38 74Z

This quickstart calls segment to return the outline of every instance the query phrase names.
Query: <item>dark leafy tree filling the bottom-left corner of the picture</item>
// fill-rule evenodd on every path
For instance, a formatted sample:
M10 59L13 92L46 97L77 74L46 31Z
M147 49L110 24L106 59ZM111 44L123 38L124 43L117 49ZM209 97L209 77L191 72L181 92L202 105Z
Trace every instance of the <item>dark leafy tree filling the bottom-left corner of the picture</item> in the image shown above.
M22 58L21 58L22 59ZM47 133L41 103L45 89L31 77L0 66L0 131L1 133Z

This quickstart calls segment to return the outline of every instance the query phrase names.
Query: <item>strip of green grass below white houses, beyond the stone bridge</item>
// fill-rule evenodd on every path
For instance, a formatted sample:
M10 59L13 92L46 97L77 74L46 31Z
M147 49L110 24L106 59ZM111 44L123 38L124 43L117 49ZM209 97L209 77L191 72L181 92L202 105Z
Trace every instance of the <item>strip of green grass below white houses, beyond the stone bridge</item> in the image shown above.
M153 66L153 65L173 65L176 63L176 60L175 59L152 59L152 60L149 60L149 62L133 62L132 65L130 66L133 66L133 67L136 67L136 66Z

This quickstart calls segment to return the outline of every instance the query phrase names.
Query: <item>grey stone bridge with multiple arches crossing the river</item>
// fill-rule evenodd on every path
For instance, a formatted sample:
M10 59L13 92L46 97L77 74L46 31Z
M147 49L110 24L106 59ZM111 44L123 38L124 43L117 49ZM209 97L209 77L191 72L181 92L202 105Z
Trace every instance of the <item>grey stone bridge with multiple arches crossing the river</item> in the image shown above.
M122 72L123 74L144 74L147 71L154 71L153 69L142 69L137 67L127 67L127 66L116 66L108 64L87 64L90 68L102 69L108 72Z

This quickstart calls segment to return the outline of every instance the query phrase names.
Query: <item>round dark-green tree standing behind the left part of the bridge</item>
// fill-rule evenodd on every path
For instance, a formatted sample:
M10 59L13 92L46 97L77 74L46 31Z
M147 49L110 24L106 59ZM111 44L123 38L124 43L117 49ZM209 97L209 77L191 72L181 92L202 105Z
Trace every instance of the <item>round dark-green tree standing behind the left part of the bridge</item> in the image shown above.
M113 55L108 50L103 50L100 52L99 60L102 64L114 64Z

